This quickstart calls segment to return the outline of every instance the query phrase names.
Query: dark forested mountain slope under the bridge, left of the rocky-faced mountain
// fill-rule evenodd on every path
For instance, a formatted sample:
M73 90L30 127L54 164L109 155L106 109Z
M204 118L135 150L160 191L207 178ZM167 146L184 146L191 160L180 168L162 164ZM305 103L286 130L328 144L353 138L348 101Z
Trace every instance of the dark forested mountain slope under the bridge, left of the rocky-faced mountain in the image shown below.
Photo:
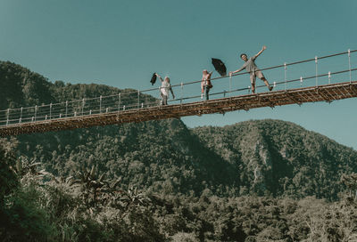
M19 152L68 176L95 166L126 186L199 195L237 188L237 167L207 149L177 119L21 135Z

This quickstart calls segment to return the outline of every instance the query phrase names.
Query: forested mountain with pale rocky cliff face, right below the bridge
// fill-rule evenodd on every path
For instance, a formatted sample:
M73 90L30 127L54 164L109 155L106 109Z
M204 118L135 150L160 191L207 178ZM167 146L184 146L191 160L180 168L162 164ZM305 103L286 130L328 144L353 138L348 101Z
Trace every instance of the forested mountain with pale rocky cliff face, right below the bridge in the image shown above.
M336 199L341 175L357 171L355 150L289 122L247 121L193 131L207 148L238 166L240 190Z

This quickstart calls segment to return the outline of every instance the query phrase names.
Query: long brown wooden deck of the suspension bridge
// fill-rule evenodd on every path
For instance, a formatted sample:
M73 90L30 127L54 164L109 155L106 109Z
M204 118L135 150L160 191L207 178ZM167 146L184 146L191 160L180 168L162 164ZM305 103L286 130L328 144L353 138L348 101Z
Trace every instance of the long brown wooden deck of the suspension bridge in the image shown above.
M357 81L302 87L270 93L256 93L210 101L156 106L144 109L129 109L79 117L65 117L51 120L0 126L0 136L21 133L43 133L49 131L86 128L97 125L114 125L143 122L171 117L201 116L203 114L225 113L235 110L249 110L288 104L302 104L315 101L335 101L357 97Z

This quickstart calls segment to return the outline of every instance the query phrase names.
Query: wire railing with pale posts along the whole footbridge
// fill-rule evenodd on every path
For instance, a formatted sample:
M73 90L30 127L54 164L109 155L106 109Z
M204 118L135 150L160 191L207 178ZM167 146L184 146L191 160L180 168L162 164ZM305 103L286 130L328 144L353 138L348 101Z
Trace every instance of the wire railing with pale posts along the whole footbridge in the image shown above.
M274 90L326 85L345 82L346 80L352 82L353 72L357 70L352 68L351 61L351 55L355 52L357 50L348 50L347 52L339 52L308 60L284 63L261 69L261 71L270 82L270 85L274 86ZM213 88L210 92L210 97L217 99L252 93L248 75L249 73L243 72L232 76L212 78ZM260 82L259 78L257 78L256 92L267 92L267 87L260 85ZM169 104L205 100L204 93L203 95L201 93L201 80L180 82L171 86L176 99L170 100ZM35 107L0 110L0 126L156 107L161 105L160 88L120 92L114 95L50 103ZM154 99L152 96L156 96L158 99Z

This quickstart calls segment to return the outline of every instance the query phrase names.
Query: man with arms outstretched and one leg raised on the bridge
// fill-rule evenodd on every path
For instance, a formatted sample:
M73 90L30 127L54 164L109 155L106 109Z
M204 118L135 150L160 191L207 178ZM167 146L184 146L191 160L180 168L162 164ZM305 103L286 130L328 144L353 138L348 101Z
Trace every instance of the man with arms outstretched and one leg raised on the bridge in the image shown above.
M242 53L240 55L240 58L245 61L243 66L240 69L237 69L235 71L229 71L229 76L232 76L232 74L235 74L243 69L245 69L247 72L249 72L250 78L251 78L251 84L252 84L252 93L255 93L255 78L256 77L262 79L264 84L269 88L269 91L273 90L273 86L269 85L268 80L264 77L264 75L262 74L262 71L260 69L258 69L258 67L255 65L255 62L254 62L254 60L266 49L267 49L267 47L265 45L262 46L262 50L249 59L245 53Z

